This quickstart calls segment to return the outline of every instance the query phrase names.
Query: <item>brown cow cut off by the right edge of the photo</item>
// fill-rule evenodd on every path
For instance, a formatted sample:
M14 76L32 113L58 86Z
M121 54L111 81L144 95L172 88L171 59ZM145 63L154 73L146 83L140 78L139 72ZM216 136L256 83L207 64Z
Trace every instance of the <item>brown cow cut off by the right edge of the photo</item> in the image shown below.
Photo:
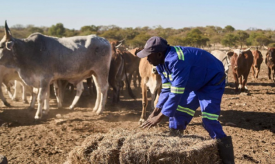
M275 48L267 48L264 45L264 48L267 50L265 63L267 64L268 68L268 79L272 81L272 83L275 83ZM271 78L271 72L272 72L272 78Z

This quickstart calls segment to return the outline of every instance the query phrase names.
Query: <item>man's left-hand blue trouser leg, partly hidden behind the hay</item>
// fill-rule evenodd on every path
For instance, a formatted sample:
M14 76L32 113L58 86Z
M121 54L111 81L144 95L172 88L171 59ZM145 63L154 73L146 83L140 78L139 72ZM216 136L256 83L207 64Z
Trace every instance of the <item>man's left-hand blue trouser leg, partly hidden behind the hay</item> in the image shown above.
M175 130L185 130L200 105L194 92L185 91L182 96L184 102L180 102L175 116L169 118L169 127Z

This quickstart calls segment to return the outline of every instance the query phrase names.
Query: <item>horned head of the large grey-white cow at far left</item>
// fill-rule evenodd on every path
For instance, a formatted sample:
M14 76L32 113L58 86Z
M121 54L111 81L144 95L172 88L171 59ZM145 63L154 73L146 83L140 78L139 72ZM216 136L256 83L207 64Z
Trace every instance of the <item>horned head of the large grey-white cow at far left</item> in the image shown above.
M12 37L12 32L8 28L7 21L5 22L5 36L0 41L0 63L6 64L13 57L13 48L15 39Z

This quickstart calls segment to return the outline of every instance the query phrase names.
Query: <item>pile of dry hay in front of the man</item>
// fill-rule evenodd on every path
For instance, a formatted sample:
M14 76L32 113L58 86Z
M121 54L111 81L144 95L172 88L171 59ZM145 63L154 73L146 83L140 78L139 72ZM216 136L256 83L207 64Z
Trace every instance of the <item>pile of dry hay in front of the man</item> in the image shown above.
M93 134L68 156L68 163L220 163L216 141L144 130Z

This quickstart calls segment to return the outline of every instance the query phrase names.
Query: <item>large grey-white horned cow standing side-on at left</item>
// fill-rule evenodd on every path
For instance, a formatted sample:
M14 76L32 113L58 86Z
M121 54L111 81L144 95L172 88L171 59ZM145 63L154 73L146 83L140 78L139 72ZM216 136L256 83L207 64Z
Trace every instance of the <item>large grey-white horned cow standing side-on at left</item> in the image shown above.
M5 23L5 36L0 41L0 64L15 68L21 79L39 88L35 119L42 117L42 105L49 94L49 85L59 79L78 85L93 76L97 87L94 112L103 112L108 90L111 62L110 43L96 35L68 38L48 37L34 33L26 39L16 39ZM83 85L77 87L79 99ZM75 101L75 100L74 100ZM49 107L46 107L45 114Z

